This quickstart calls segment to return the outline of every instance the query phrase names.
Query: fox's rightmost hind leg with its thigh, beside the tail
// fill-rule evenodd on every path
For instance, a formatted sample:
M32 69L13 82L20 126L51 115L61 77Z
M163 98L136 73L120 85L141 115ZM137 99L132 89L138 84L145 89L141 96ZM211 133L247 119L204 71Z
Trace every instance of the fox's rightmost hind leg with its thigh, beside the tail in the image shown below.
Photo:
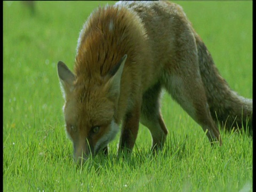
M213 122L207 104L194 33L187 22L181 22L179 27L179 37L171 45L172 53L164 63L161 84L172 98L202 126L210 142L217 140L221 145L219 130ZM209 71L204 69L202 73L207 74Z

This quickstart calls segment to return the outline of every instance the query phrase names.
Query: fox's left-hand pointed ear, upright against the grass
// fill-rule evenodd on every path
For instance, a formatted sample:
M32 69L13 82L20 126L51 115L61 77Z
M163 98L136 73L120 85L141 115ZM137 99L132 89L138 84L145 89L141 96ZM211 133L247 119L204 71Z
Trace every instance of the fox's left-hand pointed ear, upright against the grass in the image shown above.
M66 95L73 90L73 82L75 81L75 75L68 69L68 67L62 61L58 62L57 69L63 98L66 99Z

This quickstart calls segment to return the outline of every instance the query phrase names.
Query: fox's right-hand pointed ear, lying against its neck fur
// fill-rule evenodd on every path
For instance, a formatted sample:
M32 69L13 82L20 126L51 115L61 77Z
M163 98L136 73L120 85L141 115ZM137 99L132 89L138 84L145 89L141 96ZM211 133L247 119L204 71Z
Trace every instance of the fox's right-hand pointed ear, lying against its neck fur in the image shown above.
M117 63L115 67L113 67L108 75L111 78L108 81L108 97L113 99L118 99L120 94L120 84L121 84L121 77L124 69L124 63L126 61L127 55L125 54L124 57Z

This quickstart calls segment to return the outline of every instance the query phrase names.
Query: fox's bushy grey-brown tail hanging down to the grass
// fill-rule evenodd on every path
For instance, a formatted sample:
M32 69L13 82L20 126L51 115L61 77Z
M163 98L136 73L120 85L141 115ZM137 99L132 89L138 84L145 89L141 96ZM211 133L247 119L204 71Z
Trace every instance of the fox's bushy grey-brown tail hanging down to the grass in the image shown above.
M198 35L196 44L200 73L213 120L226 130L247 126L252 133L252 99L246 99L230 89Z

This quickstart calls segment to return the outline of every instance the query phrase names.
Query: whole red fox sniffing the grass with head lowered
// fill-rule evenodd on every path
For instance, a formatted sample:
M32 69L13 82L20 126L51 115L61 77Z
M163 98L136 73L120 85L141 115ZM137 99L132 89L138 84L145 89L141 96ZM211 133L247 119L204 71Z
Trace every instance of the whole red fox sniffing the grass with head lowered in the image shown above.
M217 123L249 126L252 99L232 91L182 7L170 2L118 2L93 11L78 38L73 74L58 62L66 131L74 158L108 153L122 121L118 154L132 151L139 122L153 151L168 133L161 90L221 145Z

